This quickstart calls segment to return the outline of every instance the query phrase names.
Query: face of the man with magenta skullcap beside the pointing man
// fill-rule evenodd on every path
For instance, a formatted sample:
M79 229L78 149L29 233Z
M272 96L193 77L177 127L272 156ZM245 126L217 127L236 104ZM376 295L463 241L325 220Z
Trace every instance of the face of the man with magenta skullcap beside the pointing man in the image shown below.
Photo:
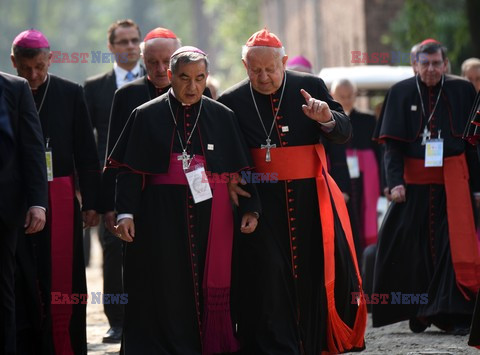
M207 86L207 67L204 60L186 64L179 63L174 73L169 69L168 78L178 101L185 105L193 105L202 98Z

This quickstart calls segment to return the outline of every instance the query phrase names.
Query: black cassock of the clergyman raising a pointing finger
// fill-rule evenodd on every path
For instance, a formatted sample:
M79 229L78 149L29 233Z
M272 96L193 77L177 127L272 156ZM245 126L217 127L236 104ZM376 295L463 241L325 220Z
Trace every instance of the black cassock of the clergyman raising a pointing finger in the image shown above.
M285 77L280 107L281 88L271 95L254 91L267 132L279 110L272 143L277 147L315 145L322 136L344 143L351 134L349 119L328 94L323 81L288 70ZM328 103L336 120L333 131L326 133L303 114L305 99L301 88ZM235 112L250 149L266 143L248 80L227 90L219 101ZM263 214L256 231L239 239L237 245L240 281L235 297L239 335L248 354L318 354L327 349L328 312L315 179L258 184L257 190ZM336 308L352 327L358 307L351 302L351 292L358 291L358 281L336 213L335 274Z

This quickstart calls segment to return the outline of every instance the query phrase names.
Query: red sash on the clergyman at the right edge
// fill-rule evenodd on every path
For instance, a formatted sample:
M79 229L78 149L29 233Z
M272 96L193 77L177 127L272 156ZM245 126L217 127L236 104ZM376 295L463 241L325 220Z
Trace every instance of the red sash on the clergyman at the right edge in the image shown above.
M480 287L480 258L475 234L469 174L465 155L443 159L444 167L425 168L423 159L405 158L407 184L442 184L447 195L447 220L450 251L457 286L469 300L469 290Z

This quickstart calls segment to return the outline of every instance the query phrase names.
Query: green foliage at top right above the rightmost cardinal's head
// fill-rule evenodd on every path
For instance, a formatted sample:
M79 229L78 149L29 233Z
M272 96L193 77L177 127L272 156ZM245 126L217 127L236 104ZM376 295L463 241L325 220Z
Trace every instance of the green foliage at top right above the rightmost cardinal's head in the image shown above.
M471 55L471 38L465 14L465 0L406 0L404 8L391 24L391 33L382 42L394 50L409 52L425 38L435 38L448 49L452 72Z

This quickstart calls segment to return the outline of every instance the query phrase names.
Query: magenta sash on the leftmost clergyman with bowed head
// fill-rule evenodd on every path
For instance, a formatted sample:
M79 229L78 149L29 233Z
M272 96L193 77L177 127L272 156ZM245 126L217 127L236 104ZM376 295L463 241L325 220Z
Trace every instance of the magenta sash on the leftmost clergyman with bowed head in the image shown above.
M51 292L72 294L73 269L73 177L54 178L49 186L49 220L52 262ZM73 354L70 344L71 304L51 304L52 334L55 353Z

